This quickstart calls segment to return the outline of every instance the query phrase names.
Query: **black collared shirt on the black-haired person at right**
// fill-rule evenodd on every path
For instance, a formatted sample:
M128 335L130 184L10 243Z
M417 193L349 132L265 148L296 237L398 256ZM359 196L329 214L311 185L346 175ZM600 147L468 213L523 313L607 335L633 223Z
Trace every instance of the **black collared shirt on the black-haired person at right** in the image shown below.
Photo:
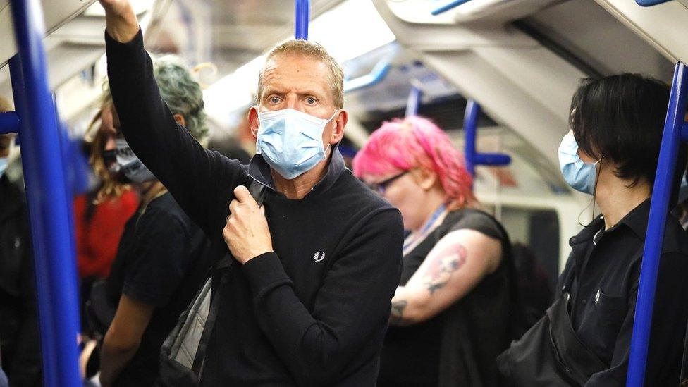
M558 292L571 274L571 319L582 340L609 369L586 386L624 386L650 199L604 230L595 219L570 239L572 253ZM646 383L677 386L688 319L688 237L668 216L653 312Z

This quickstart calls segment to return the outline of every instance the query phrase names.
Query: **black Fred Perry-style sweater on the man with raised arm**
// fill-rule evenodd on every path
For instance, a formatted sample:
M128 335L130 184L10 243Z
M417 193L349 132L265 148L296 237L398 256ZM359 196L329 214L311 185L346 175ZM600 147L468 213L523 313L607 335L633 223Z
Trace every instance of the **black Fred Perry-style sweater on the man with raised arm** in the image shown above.
M390 301L399 283L398 210L354 178L335 149L300 200L272 189L270 168L210 152L161 100L142 35L106 34L113 100L129 145L209 235L217 259L237 185L268 187L275 252L231 267L204 362L204 386L374 386Z

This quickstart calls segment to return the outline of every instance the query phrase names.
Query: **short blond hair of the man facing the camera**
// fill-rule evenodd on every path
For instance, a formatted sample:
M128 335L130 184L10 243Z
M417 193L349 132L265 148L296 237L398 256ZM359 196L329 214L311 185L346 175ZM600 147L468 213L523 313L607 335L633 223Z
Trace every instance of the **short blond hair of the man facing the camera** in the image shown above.
M325 63L330 70L328 76L328 83L331 86L332 95L337 109L344 107L344 70L342 66L334 59L321 44L316 42L309 42L303 39L291 39L282 44L279 44L274 49L271 49L265 58L267 63L273 56L278 54L297 54L302 56L310 56L314 59ZM263 73L265 66L258 73L258 94L256 96L257 104L263 97Z

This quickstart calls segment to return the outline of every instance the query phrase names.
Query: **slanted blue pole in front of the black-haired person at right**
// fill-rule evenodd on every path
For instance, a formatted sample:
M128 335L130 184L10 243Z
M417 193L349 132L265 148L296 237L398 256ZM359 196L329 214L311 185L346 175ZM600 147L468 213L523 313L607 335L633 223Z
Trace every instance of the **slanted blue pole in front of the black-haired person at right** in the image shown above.
M676 158L684 126L686 106L688 104L687 93L688 69L683 63L677 63L669 98L669 109L664 123L657 174L652 189L650 216L645 236L643 261L640 268L640 284L633 322L633 334L631 336L631 353L628 361L626 381L626 386L628 387L644 386L645 364L652 325L652 310L657 285L659 258L664 239L664 225L669 210Z

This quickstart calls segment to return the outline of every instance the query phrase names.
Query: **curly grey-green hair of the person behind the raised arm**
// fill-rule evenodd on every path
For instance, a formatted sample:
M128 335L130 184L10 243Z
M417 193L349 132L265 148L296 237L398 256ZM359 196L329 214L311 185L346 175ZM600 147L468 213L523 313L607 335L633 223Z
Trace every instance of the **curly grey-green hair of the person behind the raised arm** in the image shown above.
M184 117L189 133L198 141L207 138L210 130L206 122L203 90L188 67L177 56L161 56L153 61L153 75L162 99L172 113Z

